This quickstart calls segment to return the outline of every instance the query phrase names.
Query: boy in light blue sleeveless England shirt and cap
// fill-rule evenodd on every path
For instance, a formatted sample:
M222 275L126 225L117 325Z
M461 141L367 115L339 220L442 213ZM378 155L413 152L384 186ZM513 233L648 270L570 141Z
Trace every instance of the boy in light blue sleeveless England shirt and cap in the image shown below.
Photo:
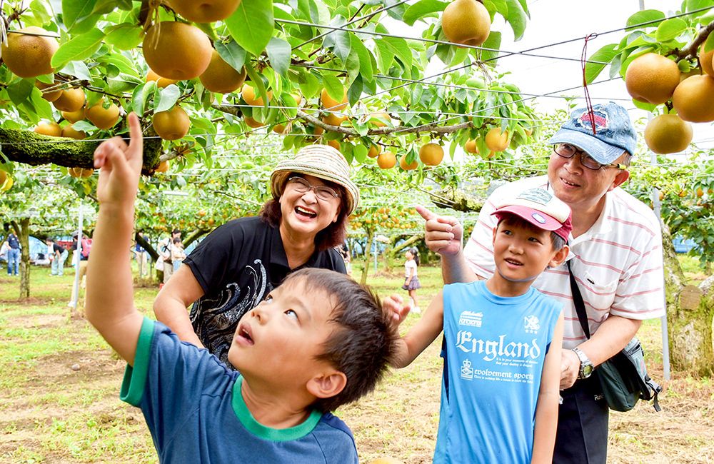
M408 365L443 331L436 464L553 458L563 305L531 283L568 256L570 207L542 188L496 206L497 272L444 286L398 342L393 363Z

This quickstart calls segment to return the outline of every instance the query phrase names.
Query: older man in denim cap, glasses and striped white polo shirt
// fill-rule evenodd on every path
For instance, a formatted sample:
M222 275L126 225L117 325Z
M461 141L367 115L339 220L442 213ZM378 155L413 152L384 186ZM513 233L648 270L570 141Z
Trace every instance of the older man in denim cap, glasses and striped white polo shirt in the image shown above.
M491 213L508 191L541 186L572 208L567 263L546 270L533 283L565 305L563 404L553 462L604 464L608 406L590 373L624 348L644 319L664 315L662 232L650 208L619 188L630 176L636 148L625 109L613 102L595 105L592 111L575 109L550 143L548 175L496 189L463 250L463 229L455 218L419 211L427 220L426 243L441 254L444 282L452 283L488 278L494 272L491 238L496 223ZM583 296L589 339L575 312L568 268Z

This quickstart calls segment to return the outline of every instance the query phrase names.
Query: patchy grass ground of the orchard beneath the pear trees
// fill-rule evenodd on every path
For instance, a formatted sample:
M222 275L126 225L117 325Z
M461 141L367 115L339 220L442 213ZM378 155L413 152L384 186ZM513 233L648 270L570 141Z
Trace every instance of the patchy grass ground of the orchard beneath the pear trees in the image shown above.
M381 296L401 291L401 268L372 275ZM141 412L119 400L124 363L84 319L69 317L72 277L31 269L31 298L0 272L0 463L156 463ZM441 286L438 268L419 268L420 306ZM135 288L153 317L158 288ZM410 315L411 326L418 315ZM609 463L713 463L714 385L673 372L663 380L659 321L640 329L650 374L665 386L655 413L640 403L610 417ZM441 340L412 365L393 370L376 391L338 415L352 428L363 463L391 456L431 463L441 389Z

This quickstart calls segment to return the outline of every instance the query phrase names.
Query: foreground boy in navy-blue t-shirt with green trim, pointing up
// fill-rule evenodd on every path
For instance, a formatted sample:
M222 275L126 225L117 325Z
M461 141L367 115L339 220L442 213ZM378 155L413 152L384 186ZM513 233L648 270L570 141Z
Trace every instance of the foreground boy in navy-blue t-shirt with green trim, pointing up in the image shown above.
M139 118L128 121L129 146L115 137L94 152L86 316L129 364L121 398L144 413L159 462L357 464L350 429L329 411L371 391L393 354L376 296L333 271L291 274L241 318L228 351L240 374L142 316L127 259L142 139Z

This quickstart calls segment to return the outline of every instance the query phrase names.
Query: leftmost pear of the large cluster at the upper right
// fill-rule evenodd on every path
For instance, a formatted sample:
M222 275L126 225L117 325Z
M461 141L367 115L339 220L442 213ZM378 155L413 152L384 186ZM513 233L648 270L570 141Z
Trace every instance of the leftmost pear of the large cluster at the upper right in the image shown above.
M659 105L672 98L679 84L677 64L655 53L635 58L625 71L625 86L633 99Z

